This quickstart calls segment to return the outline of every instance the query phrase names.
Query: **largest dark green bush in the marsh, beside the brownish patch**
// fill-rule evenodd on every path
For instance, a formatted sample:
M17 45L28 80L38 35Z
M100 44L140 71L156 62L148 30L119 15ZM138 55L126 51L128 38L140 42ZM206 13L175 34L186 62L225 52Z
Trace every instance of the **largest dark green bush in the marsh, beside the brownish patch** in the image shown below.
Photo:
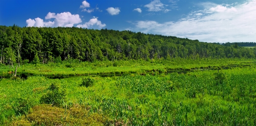
M41 104L52 104L60 107L65 102L66 93L63 89L60 89L57 83L52 83L47 90L47 93L40 99Z

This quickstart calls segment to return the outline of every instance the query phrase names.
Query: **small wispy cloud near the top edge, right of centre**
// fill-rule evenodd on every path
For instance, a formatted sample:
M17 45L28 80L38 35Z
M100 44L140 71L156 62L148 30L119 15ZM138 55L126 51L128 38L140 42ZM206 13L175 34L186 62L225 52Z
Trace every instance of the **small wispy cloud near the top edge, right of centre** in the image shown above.
M157 12L157 11L168 12L168 11L171 11L169 9L165 9L164 6L166 6L166 5L161 3L160 0L154 0L154 1L150 2L147 5L144 5L144 7L148 8L147 11L153 11L153 12Z

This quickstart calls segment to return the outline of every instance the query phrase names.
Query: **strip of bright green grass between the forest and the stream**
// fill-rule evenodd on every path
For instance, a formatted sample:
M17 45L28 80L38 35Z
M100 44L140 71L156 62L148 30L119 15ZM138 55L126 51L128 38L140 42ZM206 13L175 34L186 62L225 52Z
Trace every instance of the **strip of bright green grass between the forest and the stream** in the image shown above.
M18 68L17 73L43 76L74 76L74 75L102 75L114 76L120 74L138 73L145 74L151 71L161 70L194 70L200 68L217 69L217 67L237 67L242 65L254 65L254 59L172 59L171 61L115 61L113 62L74 62L63 61L62 64L25 64ZM0 67L2 74L14 72L15 69L9 69L8 66Z

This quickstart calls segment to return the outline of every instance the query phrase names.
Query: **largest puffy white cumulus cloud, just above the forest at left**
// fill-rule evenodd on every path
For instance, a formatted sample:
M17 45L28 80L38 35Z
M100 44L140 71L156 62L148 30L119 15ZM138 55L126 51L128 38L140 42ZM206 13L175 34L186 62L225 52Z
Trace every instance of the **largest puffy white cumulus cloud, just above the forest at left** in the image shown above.
M78 14L71 14L70 12L51 13L49 12L45 19L54 19L54 21L44 21L43 19L36 18L27 19L28 27L73 27L74 24L81 23L82 20Z

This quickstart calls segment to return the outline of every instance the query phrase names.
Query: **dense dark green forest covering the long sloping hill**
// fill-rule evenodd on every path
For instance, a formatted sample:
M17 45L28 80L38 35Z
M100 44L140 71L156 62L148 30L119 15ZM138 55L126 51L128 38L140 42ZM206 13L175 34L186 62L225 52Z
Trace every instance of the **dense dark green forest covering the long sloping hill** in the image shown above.
M188 38L141 32L76 27L0 26L1 63L47 63L79 59L104 60L172 58L254 58L255 48L203 43Z

